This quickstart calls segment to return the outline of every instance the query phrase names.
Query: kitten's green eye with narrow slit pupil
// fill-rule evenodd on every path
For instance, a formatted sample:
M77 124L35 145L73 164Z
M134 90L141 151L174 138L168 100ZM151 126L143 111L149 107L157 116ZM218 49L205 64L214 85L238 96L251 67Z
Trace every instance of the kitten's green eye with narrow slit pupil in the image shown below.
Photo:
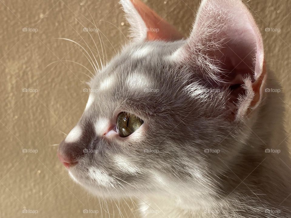
M134 133L142 124L143 120L139 117L126 112L121 112L117 116L116 130L121 137L127 137Z

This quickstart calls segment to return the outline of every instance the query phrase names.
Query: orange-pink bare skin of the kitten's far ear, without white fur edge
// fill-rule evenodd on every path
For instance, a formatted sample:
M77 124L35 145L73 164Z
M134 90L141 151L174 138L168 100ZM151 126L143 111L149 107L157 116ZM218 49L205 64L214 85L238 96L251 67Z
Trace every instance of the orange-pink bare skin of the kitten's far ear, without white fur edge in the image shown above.
M147 27L147 40L176 41L183 35L140 0L130 0Z

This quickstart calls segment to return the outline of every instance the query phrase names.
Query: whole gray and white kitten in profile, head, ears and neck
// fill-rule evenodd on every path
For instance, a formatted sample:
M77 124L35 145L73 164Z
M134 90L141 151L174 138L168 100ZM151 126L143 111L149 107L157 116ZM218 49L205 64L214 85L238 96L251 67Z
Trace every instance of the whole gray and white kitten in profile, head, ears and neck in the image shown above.
M202 0L183 38L140 0L121 4L132 41L59 146L70 176L135 197L142 217L291 217L283 97L246 6Z

